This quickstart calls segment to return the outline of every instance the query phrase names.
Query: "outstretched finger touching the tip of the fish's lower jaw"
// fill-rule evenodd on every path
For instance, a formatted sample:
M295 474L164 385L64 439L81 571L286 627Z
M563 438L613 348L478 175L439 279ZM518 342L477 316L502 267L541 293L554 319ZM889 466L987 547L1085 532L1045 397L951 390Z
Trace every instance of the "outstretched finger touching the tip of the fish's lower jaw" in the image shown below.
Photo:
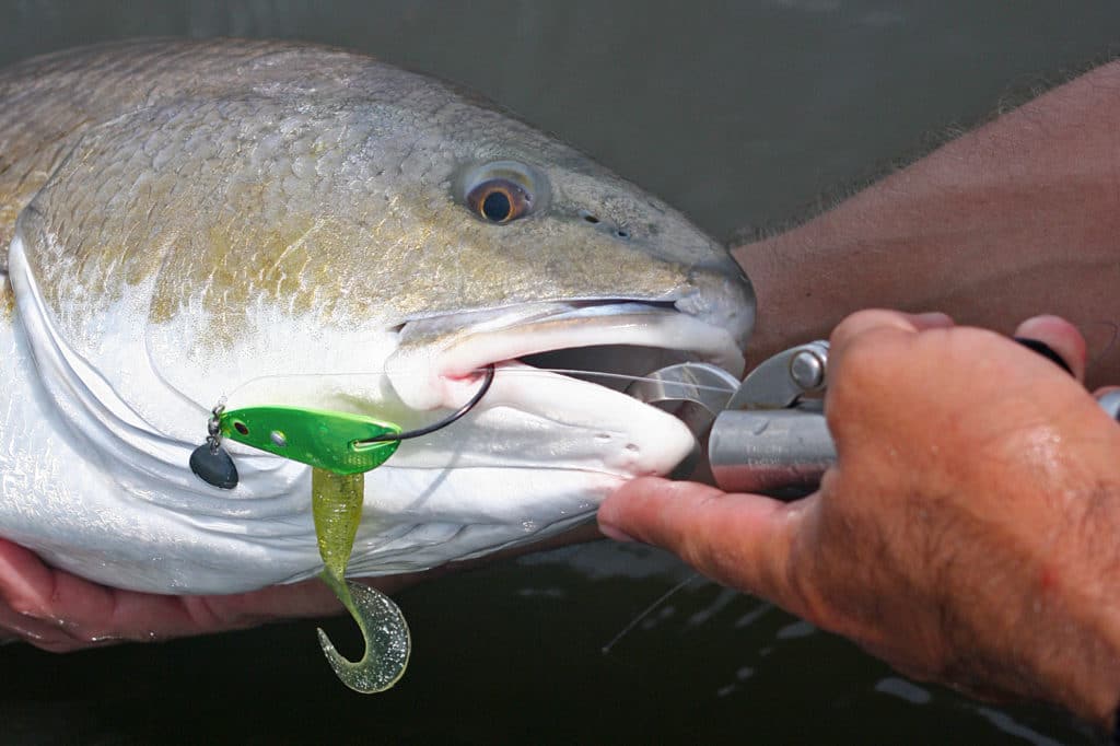
M791 554L815 497L783 503L692 482L634 479L604 501L599 529L662 547L708 577L796 610Z

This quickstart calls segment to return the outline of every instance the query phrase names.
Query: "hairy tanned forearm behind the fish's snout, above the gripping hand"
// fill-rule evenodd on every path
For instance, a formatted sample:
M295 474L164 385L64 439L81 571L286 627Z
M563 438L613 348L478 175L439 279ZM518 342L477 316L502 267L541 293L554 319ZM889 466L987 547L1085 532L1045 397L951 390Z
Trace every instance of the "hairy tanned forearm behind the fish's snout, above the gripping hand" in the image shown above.
M1088 338L1090 385L1116 382L1120 63L735 253L758 296L755 363L860 308L936 309L1002 332L1049 313Z

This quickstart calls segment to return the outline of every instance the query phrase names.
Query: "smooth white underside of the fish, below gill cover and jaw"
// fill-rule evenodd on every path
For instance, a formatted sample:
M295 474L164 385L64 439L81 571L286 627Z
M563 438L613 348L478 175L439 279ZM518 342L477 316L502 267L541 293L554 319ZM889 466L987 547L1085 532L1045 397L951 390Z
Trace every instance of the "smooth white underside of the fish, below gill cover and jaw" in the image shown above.
M239 593L321 569L309 474L290 494L231 497L226 514L168 507L161 487L125 487L114 465L82 453L18 323L0 328L0 535L55 567L150 593ZM382 467L366 475L351 574L417 571L551 535L587 520L619 483L539 467Z

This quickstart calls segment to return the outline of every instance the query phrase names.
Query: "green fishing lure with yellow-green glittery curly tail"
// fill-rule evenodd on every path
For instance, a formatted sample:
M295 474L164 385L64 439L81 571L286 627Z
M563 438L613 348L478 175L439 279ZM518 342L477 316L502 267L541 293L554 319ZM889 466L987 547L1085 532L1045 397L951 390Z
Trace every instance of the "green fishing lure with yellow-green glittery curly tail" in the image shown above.
M396 683L409 662L411 637L404 615L389 597L346 580L346 565L362 521L365 473L396 451L401 429L345 412L290 407L251 407L223 412L222 435L311 468L311 514L324 570L319 574L351 613L365 641L362 660L343 658L319 630L319 644L335 673L362 693Z

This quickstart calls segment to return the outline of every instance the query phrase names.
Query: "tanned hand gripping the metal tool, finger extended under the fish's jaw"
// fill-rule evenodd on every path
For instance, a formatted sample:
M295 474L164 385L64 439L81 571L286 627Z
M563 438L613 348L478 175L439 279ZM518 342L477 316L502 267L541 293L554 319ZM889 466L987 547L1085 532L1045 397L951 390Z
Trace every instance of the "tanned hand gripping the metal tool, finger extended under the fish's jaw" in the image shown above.
M942 315L862 311L832 335L825 402L838 463L781 503L642 479L604 533L856 641L917 679L1046 699L1109 724L1120 697L1120 428L1080 381L1081 335L1017 336Z

